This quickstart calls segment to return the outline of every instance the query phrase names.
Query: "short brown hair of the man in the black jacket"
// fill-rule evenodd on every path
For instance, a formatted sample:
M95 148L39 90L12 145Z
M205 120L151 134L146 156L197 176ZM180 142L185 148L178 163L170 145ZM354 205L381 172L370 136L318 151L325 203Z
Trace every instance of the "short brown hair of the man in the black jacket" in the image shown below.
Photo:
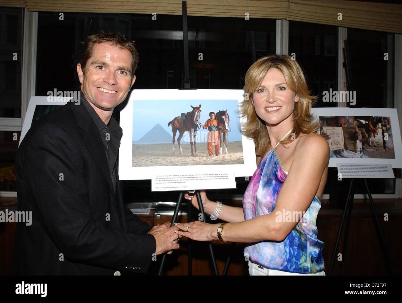
M80 61L82 72L85 73L85 66L89 58L92 56L94 45L97 43L109 42L113 45L119 46L123 49L127 49L131 53L131 77L133 77L138 65L138 52L134 46L134 41L128 41L126 37L118 33L103 33L88 36L80 55Z

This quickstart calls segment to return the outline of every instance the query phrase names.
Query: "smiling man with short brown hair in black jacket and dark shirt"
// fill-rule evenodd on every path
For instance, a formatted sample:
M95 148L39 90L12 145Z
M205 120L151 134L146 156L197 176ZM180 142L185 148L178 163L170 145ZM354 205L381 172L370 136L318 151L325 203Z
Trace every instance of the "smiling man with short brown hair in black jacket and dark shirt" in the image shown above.
M20 223L11 275L120 275L146 272L177 249L177 228L151 228L124 206L113 109L135 81L138 55L119 34L88 37L77 65L81 102L35 122L16 156Z

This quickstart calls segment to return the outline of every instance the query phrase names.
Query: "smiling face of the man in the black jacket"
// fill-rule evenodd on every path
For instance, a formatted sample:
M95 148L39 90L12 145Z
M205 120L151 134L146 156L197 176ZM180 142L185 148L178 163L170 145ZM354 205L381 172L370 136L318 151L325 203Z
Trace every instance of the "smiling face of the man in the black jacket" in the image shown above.
M85 73L77 65L81 90L95 110L113 111L127 97L135 81L131 77L131 53L108 42L93 47Z

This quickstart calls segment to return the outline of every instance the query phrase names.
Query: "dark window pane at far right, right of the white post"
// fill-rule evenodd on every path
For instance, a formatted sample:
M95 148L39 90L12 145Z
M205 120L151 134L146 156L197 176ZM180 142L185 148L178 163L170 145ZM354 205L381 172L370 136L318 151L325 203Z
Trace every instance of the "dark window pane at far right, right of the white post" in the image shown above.
M394 107L394 34L348 28L351 107Z

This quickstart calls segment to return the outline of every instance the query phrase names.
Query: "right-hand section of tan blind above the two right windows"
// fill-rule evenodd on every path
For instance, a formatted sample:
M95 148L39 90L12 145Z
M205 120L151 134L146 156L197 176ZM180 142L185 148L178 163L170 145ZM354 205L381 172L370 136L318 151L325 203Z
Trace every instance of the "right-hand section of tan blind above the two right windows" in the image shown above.
M402 34L401 4L291 0L287 19Z

